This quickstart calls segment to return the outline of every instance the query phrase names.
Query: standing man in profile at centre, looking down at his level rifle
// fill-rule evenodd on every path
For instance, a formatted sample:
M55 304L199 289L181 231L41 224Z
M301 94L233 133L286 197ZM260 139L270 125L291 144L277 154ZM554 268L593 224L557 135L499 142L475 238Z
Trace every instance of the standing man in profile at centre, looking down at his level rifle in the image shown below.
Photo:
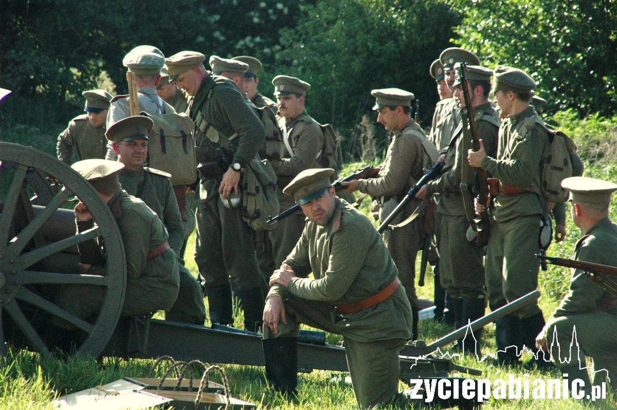
M390 131L392 141L386 160L381 164L377 178L353 179L343 182L347 192L360 191L373 197L371 211L380 220L394 210L400 199L422 178L423 169L430 168L437 160L437 150L426 139L424 131L412 120L412 92L398 88L374 89L376 97L373 110L378 112L377 122ZM407 219L418 207L418 201L409 202L399 214L397 223ZM418 338L418 297L414 285L416 253L424 239L423 215L412 223L393 231L384 232L387 250L399 270L400 281L405 287L413 313L413 340ZM376 218L377 219L377 218Z

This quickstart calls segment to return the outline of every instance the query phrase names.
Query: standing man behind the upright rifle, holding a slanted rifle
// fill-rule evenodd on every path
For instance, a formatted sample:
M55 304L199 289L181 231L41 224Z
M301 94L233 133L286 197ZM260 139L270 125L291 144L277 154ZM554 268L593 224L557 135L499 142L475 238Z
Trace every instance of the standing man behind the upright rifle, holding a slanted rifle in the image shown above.
M458 69L458 66L457 66ZM491 91L492 71L486 67L468 65L465 67L467 90L473 107L474 119L478 137L484 141L487 152L492 157L497 154L497 132L499 131L499 116L489 102ZM461 108L465 107L463 84L458 75L454 82L454 97ZM474 321L484 316L484 266L482 264L482 249L467 239L466 233L470 228L468 216L460 188L461 182L473 186L476 177L473 170L469 170L467 178L462 181L462 169L470 168L466 163L465 145L470 144L471 131L466 118L453 132L450 144L445 154L445 165L439 178L427 182L416 198L423 199L427 195L439 193L439 213L442 237L439 244L439 267L441 269L441 285L452 298L455 327L465 326L468 321ZM473 204L470 204L473 207ZM473 337L479 342L481 330L474 332ZM462 343L463 341L459 341ZM462 343L465 350L479 353L479 345L468 338Z

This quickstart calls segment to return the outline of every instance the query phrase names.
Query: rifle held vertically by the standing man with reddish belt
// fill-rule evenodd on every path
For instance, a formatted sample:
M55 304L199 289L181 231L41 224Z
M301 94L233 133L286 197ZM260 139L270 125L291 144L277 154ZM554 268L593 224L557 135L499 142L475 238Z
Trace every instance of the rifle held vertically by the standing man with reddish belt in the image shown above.
M465 129L469 125L471 131L471 147L474 151L480 149L480 139L478 137L478 128L476 127L476 118L474 117L473 107L471 106L471 97L467 89L467 78L465 76L466 63L462 63L458 69L458 75L461 78L461 88L463 90L463 97L465 98L465 109L463 109L463 139L465 139ZM466 154L466 150L463 150L463 154ZM473 199L471 197L471 187L467 184L468 179L467 172L469 165L463 164L463 178L460 184L461 192L463 194L463 203L465 205L465 214L467 220L471 224L474 231L478 232L476 238L476 245L483 247L489 242L489 233L491 229L491 221L489 221L489 215L487 211L478 213L474 210ZM482 205L486 205L489 202L489 182L486 179L486 171L482 168L475 168L476 177L478 179L478 200Z

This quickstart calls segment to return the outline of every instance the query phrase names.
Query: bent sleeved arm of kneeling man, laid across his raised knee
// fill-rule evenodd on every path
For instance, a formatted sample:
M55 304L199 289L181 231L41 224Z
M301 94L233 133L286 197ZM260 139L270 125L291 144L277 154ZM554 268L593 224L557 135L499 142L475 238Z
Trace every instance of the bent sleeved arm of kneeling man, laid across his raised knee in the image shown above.
M299 298L319 301L336 301L347 293L364 263L368 236L352 223L334 233L331 241L328 269L323 277L294 277L289 281L289 293Z

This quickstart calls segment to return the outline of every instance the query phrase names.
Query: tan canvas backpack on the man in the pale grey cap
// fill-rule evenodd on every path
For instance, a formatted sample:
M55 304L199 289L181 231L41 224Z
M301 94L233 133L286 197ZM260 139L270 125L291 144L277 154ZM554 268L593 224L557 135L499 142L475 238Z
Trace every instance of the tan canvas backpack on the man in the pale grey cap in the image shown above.
M193 184L197 179L193 120L184 113L151 114L148 166L172 174L172 185Z

